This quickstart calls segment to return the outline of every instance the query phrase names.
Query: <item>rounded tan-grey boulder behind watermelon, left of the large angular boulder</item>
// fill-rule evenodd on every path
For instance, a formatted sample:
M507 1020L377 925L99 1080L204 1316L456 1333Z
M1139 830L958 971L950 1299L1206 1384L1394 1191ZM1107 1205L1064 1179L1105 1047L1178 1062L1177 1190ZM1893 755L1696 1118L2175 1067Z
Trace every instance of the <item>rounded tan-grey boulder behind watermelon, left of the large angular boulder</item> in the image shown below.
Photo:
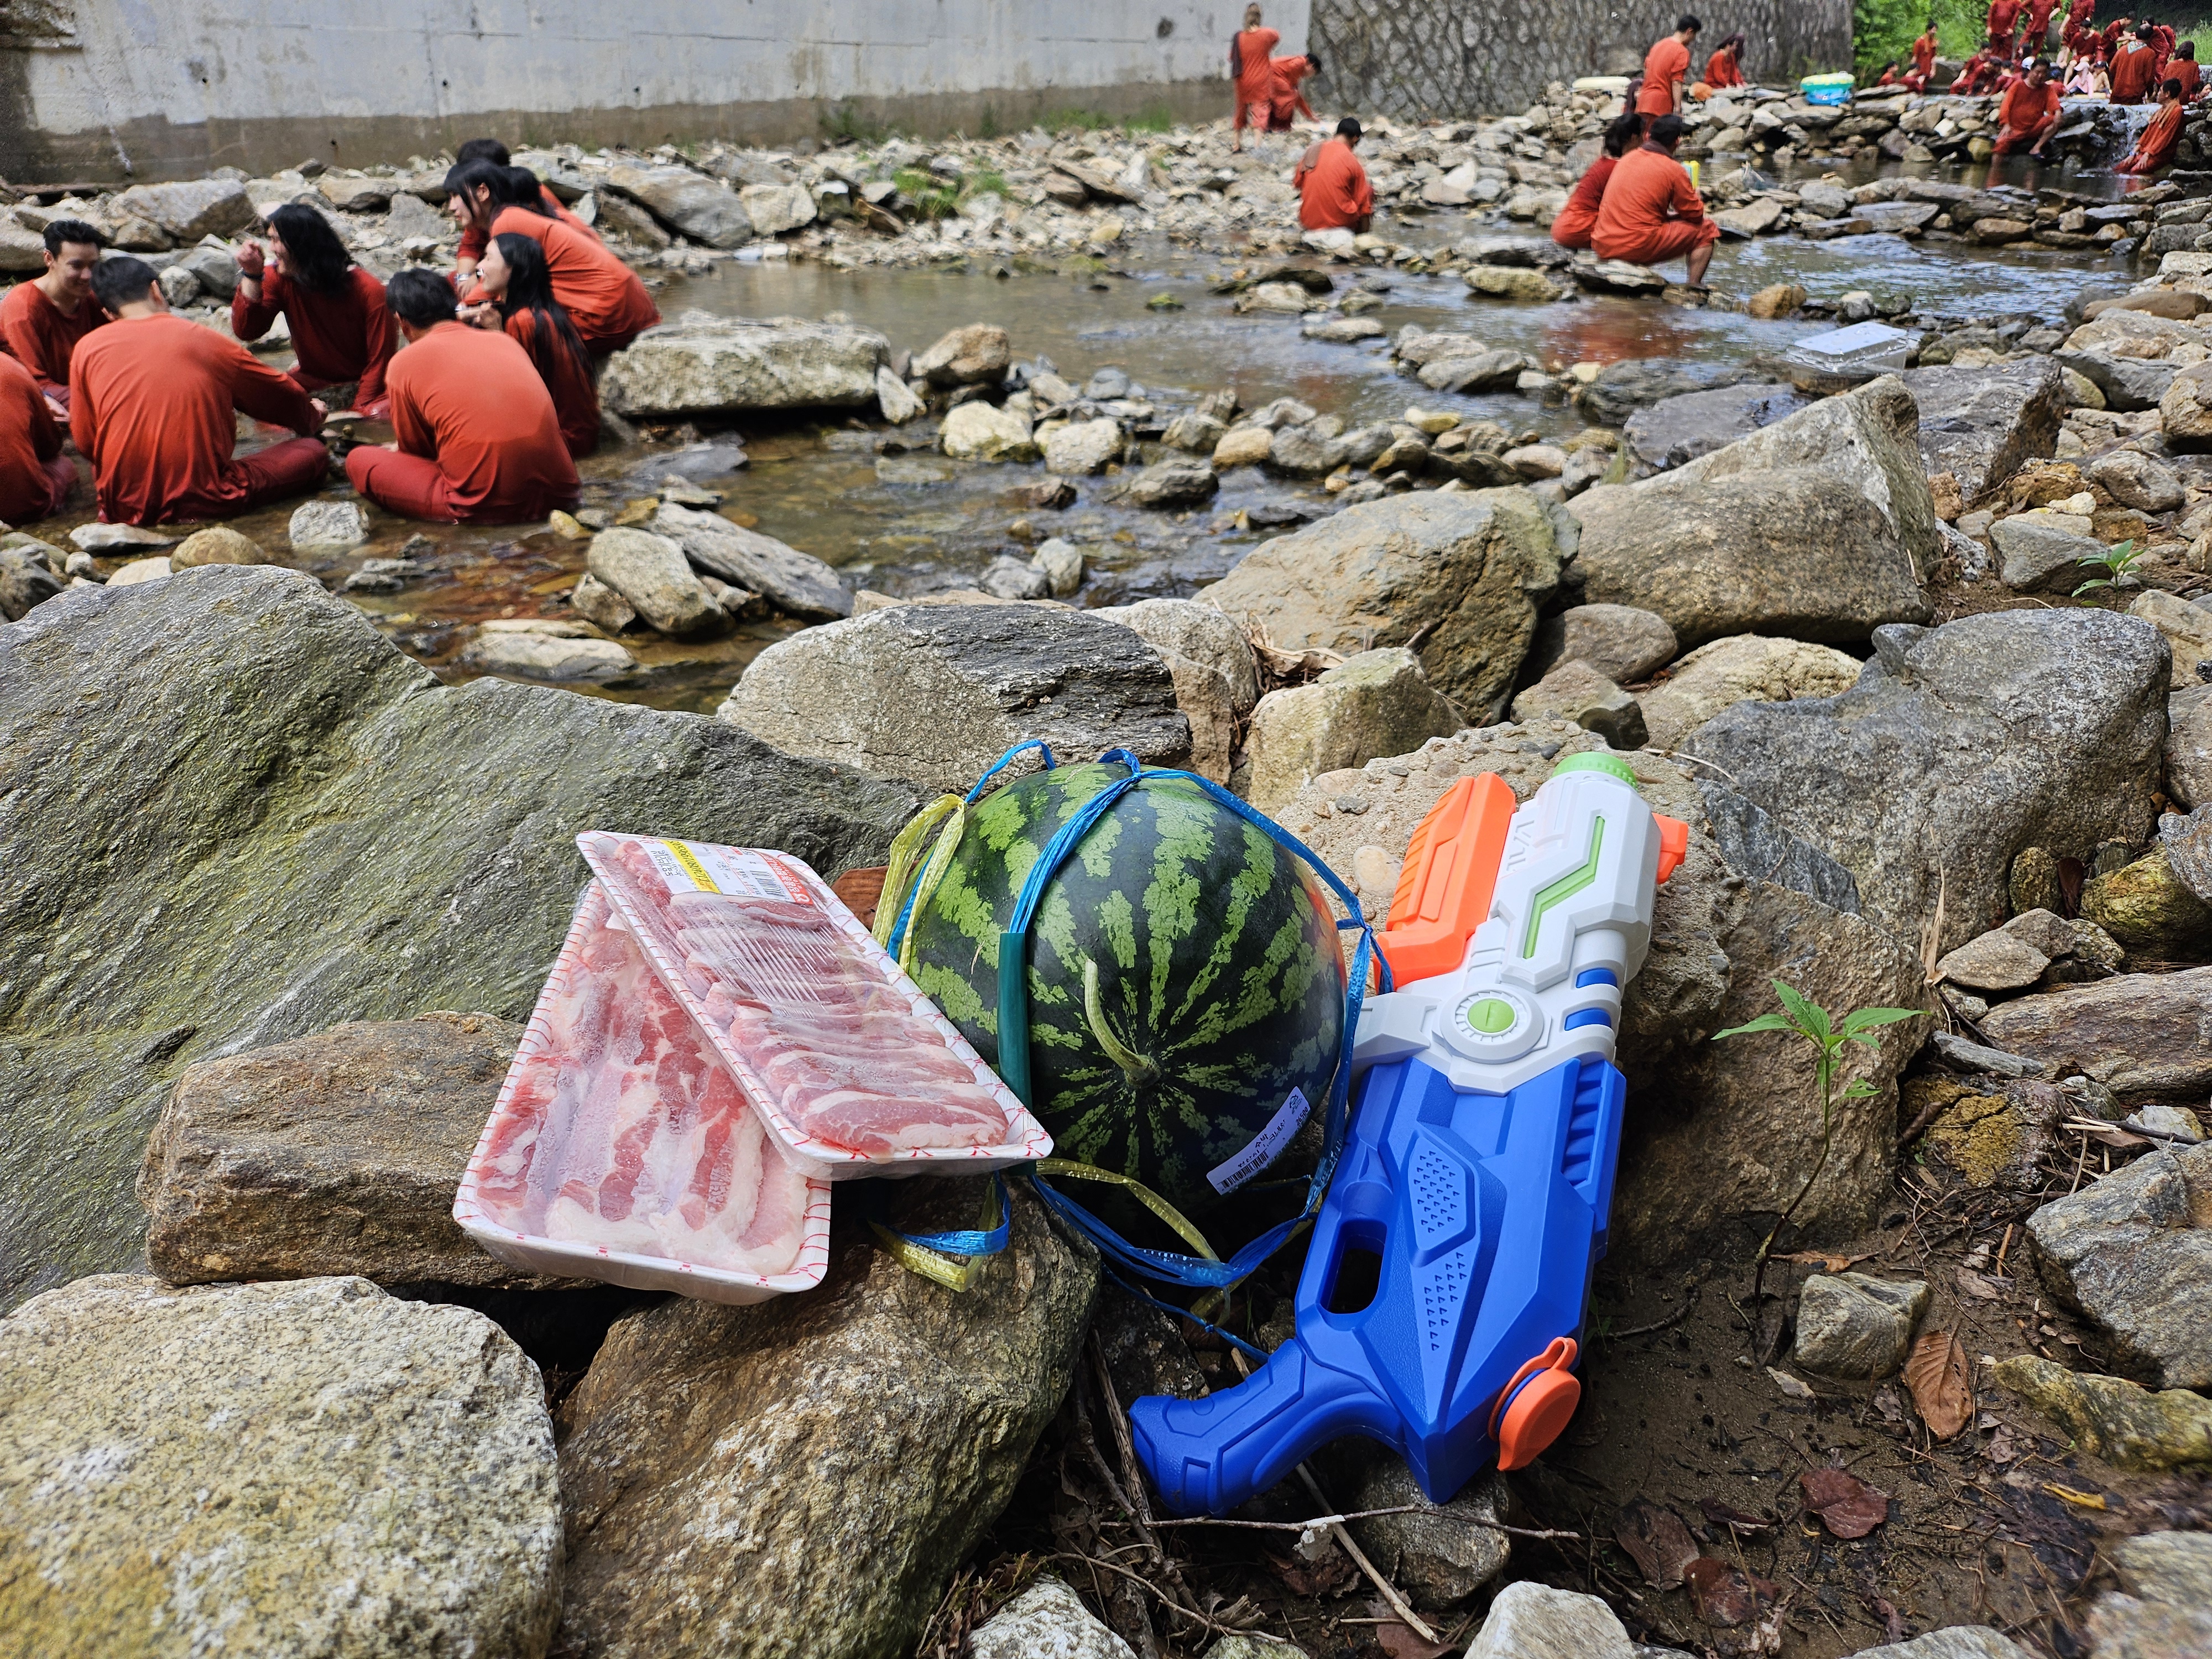
M1559 582L1559 544L1526 489L1425 491L1279 535L1203 591L1285 650L1345 655L1422 635L1429 681L1462 714L1502 699Z

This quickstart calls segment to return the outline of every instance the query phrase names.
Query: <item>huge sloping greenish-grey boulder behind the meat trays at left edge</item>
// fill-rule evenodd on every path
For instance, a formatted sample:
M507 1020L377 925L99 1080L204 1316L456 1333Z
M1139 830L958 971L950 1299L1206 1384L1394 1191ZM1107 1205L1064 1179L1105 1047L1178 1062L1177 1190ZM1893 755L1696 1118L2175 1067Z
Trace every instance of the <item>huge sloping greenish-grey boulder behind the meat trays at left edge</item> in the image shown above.
M281 566L40 606L0 635L0 984L35 987L0 1004L9 1305L142 1259L133 1183L186 1064L425 1006L524 1018L580 830L827 878L883 863L916 807L697 714L442 686Z

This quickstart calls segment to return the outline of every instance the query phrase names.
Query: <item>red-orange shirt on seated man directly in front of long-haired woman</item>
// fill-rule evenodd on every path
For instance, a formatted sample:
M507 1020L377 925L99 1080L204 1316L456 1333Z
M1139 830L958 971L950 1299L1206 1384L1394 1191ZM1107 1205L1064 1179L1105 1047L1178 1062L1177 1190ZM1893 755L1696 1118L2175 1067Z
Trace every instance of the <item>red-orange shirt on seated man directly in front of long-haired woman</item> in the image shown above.
M392 431L434 460L462 518L544 518L575 500L575 462L538 365L504 332L438 323L392 358Z

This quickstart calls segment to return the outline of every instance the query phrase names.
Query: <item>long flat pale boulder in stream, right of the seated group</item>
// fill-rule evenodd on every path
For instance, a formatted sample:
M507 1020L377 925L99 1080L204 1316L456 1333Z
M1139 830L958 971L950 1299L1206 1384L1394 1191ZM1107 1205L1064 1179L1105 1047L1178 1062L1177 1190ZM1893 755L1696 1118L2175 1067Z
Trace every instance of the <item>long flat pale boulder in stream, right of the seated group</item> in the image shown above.
M619 416L858 409L889 358L869 327L686 312L606 361L599 400Z

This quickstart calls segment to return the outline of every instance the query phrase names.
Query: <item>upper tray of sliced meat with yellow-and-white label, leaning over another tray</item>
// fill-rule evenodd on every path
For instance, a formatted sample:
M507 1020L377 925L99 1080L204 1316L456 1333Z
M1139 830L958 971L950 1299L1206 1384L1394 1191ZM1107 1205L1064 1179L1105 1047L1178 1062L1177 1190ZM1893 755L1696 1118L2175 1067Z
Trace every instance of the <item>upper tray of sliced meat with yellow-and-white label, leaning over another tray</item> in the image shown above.
M1044 1157L1051 1137L794 858L577 836L668 991L770 1130L832 1179Z

